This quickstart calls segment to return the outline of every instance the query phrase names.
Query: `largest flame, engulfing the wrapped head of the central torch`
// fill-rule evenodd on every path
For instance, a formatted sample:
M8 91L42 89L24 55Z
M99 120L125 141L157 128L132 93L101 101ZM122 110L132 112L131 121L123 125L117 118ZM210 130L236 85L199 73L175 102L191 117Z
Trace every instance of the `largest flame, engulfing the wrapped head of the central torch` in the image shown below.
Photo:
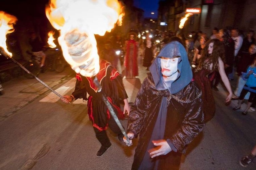
M60 30L63 56L75 72L92 77L99 72L94 34L111 32L124 15L117 0L51 0L46 16ZM121 20L118 22L121 23Z

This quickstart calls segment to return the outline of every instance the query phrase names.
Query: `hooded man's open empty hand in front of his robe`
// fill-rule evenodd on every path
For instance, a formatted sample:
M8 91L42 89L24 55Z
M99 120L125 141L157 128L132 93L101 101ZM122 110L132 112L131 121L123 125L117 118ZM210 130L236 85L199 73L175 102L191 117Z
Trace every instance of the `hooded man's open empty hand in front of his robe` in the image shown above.
M154 158L154 157L157 157L157 156L160 156L160 155L166 155L170 151L172 151L171 147L169 146L169 144L164 139L153 140L152 142L157 147L152 148L148 151L151 158Z

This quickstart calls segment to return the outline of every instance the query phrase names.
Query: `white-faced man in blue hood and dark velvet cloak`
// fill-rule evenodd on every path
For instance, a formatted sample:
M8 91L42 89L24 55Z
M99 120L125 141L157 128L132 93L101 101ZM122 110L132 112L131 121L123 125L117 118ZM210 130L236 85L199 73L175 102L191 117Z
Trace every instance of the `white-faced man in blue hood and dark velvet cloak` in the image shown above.
M130 110L127 135L139 135L132 169L179 169L181 154L205 125L201 94L184 46L165 45Z

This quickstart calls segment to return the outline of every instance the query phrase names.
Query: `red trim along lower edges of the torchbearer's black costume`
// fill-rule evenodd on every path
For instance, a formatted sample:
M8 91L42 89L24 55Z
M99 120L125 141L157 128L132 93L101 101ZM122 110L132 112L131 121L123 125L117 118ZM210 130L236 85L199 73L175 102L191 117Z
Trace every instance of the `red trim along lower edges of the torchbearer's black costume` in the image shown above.
M92 98L93 98L92 96L89 96L88 102L87 102L89 119L90 119L90 121L92 121L93 127L97 128L99 131L106 130L106 129L108 128L108 120L110 119L110 112L109 112L109 110L107 109L107 124L106 124L106 126L105 126L105 127L99 127L99 125L97 125L97 124L94 122L93 107L92 107L92 106L93 106L93 104L92 104ZM112 103L112 99L111 99L110 97L107 97L107 99L108 99L108 101L110 102L110 104L111 104L114 108L116 108L118 118L119 118L119 119L123 119L124 116L123 116L123 113L122 113L121 108L118 107L118 106L116 106L116 105L114 105L114 104Z

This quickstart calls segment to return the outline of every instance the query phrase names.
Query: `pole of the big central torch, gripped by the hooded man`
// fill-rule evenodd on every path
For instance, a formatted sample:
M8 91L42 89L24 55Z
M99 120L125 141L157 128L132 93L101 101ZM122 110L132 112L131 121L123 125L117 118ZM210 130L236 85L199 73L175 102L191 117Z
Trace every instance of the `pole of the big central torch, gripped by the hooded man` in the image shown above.
M98 87L98 92L101 92L102 87L99 83L99 80L97 79L97 77L93 77L93 83ZM123 126L121 125L119 119L117 118L117 115L115 114L113 107L111 106L110 102L108 101L108 99L106 98L105 94L102 92L102 99L104 101L104 103L106 104L109 112L111 113L112 117L114 118L115 122L117 123L118 127L120 128L121 132L123 133L123 136L126 138L127 142L130 142L130 139L128 138Z

